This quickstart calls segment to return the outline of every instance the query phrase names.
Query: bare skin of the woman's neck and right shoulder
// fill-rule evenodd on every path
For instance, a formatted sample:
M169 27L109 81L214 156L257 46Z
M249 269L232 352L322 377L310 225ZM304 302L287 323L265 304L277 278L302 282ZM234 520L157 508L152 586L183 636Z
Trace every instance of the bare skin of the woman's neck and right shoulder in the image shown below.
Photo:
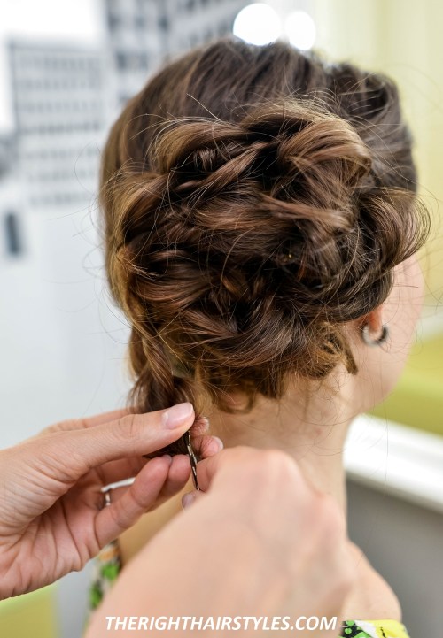
M241 406L239 396L229 396ZM293 457L305 479L319 491L332 496L343 511L346 523L346 476L343 450L354 416L364 411L364 398L350 374L309 388L293 386L277 402L259 395L248 414L208 413L212 434L218 434L226 448L248 445L276 448ZM349 560L358 576L346 597L342 618L401 618L400 603L389 585L373 569L360 548L348 539Z

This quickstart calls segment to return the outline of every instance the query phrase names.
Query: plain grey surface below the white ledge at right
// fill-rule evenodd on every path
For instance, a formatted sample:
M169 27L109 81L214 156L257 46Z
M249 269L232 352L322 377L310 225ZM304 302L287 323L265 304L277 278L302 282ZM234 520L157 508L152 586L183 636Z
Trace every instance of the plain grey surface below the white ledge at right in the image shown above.
M348 481L349 535L399 597L411 638L441 635L443 513Z

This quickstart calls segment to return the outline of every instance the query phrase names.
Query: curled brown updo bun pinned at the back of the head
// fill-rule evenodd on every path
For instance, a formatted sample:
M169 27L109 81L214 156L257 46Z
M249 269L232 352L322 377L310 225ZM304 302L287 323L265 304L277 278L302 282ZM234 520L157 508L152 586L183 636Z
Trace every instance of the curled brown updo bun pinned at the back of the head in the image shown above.
M283 396L285 373L355 372L340 325L384 301L423 236L413 195L377 186L355 128L292 99L167 121L149 156L106 184L139 404L206 393L229 410L231 388L253 401Z

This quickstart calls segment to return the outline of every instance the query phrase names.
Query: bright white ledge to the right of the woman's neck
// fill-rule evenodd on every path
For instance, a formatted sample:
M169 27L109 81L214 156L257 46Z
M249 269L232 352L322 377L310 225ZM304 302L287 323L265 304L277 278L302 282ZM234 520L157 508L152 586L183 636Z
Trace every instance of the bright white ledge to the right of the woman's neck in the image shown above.
M347 476L443 513L443 437L363 415L350 427Z

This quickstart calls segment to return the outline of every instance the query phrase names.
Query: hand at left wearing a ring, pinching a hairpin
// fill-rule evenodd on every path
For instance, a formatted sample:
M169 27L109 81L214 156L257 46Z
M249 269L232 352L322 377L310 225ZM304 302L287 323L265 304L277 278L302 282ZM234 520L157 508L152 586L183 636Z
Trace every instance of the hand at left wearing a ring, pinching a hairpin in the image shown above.
M77 571L145 512L163 503L190 478L184 455L146 460L142 455L176 441L195 419L173 419L174 409L149 414L113 411L70 420L19 445L0 450L0 598L43 587ZM165 422L165 416L169 419ZM220 449L191 434L201 457ZM105 485L136 476L103 507Z

